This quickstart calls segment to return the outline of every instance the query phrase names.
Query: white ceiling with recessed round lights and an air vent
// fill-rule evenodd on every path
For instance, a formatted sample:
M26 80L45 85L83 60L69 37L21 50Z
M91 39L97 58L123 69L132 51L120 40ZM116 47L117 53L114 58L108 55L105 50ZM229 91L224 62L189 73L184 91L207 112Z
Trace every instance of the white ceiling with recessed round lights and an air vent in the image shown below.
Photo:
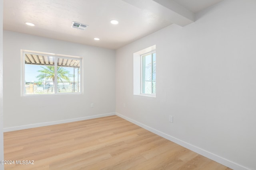
M220 1L4 0L3 25L4 30L117 49L172 23L187 25L196 12ZM119 24L112 25L113 19ZM84 31L74 29L72 21L89 26Z

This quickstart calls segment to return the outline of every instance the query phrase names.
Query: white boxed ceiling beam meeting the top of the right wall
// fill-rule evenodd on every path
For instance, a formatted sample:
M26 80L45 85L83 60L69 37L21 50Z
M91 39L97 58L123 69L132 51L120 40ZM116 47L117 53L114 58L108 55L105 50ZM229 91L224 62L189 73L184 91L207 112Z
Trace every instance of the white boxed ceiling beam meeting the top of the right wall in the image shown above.
M180 26L195 21L195 14L172 0L123 0Z

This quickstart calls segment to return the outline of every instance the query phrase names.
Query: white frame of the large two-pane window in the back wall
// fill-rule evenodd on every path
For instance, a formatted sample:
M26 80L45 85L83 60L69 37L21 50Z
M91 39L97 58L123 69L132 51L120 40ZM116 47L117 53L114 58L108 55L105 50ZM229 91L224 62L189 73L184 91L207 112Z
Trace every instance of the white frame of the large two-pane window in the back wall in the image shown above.
M58 58L62 59L76 59L80 61L80 92L58 92L58 79L54 79L54 93L52 94L26 94L26 81L25 81L25 54L31 55L47 55L48 57L54 57L54 70L55 75L57 77L57 63ZM71 55L61 55L61 54L54 54L54 53L45 53L45 52L38 52L38 51L30 51L30 50L21 50L21 96L45 96L45 95L63 95L63 94L83 94L83 79L82 79L82 72L83 72L83 60L82 57L71 56Z

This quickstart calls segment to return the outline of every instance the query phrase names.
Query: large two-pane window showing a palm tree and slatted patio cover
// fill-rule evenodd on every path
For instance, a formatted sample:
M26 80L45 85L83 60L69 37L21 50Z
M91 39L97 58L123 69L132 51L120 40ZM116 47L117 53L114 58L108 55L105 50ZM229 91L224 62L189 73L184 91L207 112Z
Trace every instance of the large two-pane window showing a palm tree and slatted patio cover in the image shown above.
M81 63L79 57L23 51L23 94L80 93Z

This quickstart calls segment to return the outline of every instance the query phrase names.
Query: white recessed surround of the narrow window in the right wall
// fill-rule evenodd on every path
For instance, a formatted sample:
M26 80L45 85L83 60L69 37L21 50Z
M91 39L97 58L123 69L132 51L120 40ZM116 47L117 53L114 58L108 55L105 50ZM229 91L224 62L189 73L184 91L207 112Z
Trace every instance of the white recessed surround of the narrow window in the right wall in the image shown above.
M133 53L133 94L156 98L156 93L142 93L142 56L149 53L156 53L156 45Z

